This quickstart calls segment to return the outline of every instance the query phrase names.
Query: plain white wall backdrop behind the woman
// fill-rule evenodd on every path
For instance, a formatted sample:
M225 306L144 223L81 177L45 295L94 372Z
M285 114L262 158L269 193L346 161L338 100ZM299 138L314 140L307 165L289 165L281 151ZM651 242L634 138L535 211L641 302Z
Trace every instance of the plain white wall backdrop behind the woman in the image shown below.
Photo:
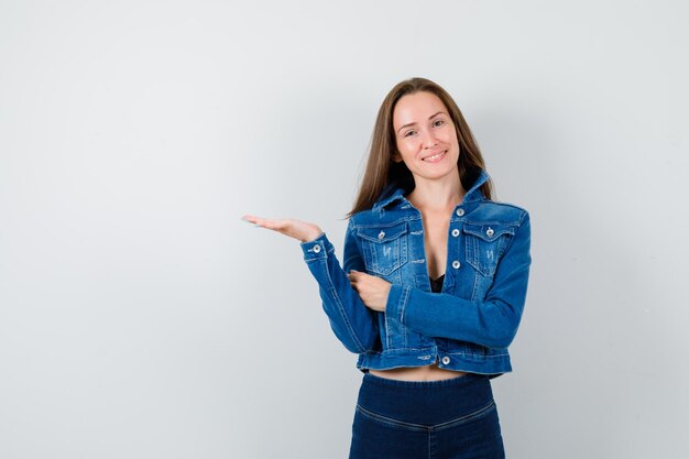
M375 112L424 76L533 225L511 458L686 458L681 1L0 1L0 457L346 458L341 260Z

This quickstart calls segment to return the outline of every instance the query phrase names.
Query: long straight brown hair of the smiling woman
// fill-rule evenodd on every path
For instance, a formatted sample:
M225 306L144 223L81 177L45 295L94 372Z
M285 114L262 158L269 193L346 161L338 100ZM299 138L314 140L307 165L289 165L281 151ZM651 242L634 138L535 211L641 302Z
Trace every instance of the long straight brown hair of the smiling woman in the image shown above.
M371 149L369 151L367 170L357 199L354 200L354 206L347 214L347 218L350 218L361 210L373 207L373 204L380 197L383 189L392 183L396 183L407 190L414 189L415 184L412 172L404 162L395 163L392 160L393 153L397 151L392 119L395 106L403 96L420 91L427 91L438 96L452 119L452 123L457 130L457 140L459 141L457 167L462 186L473 183L480 170L485 168L479 145L473 139L471 130L467 121L464 121L464 117L459 110L459 107L457 107L457 103L452 100L452 97L429 79L405 79L391 89L378 111L378 118L371 136ZM486 199L492 199L493 184L491 179L481 185L480 189L483 192Z

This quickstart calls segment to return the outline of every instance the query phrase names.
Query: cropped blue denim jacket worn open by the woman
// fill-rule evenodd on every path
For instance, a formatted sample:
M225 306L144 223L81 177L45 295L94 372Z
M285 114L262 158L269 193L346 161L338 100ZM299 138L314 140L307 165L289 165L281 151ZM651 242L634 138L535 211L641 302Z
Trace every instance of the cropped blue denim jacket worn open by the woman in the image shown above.
M357 368L438 367L489 374L512 371L507 347L517 331L531 267L528 211L488 200L481 171L452 211L442 291L430 291L422 214L391 186L371 209L349 219L343 269L325 232L302 242L322 308ZM385 313L369 309L350 270L390 282Z

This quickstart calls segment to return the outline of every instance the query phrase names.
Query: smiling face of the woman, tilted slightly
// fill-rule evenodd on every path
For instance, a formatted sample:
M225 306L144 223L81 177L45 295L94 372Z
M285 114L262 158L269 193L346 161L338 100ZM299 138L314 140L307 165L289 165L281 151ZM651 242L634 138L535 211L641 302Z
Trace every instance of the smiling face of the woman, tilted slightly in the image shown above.
M431 92L403 96L393 112L397 154L414 178L439 178L457 174L459 142L447 108Z

